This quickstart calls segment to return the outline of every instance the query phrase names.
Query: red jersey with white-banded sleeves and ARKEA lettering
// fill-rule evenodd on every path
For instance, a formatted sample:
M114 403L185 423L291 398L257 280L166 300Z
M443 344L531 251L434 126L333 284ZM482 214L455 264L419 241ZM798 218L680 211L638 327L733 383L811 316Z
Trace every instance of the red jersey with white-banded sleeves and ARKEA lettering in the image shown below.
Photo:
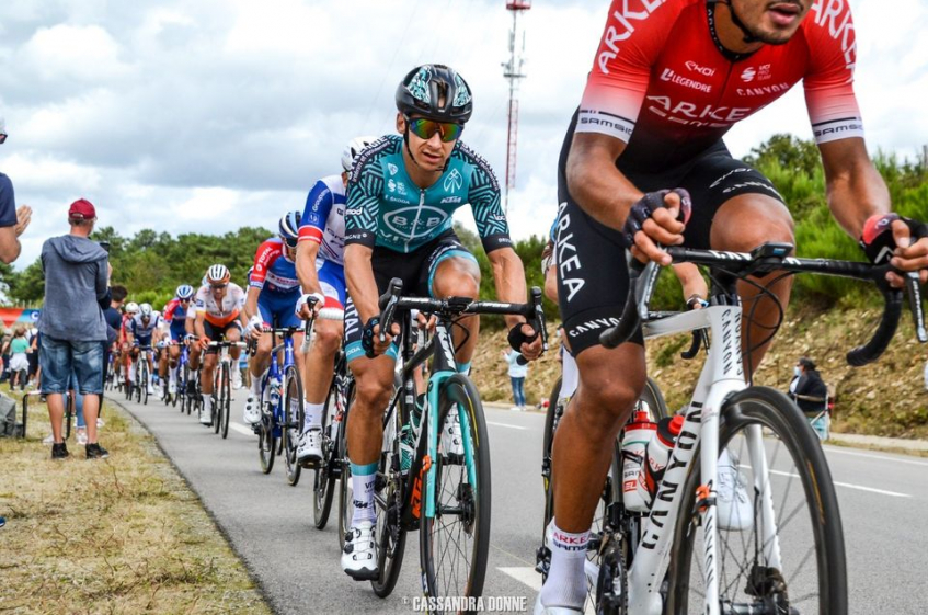
M617 137L623 157L666 167L802 80L816 143L863 136L848 0L815 0L788 43L737 60L713 41L713 11L707 0L614 0L576 132Z

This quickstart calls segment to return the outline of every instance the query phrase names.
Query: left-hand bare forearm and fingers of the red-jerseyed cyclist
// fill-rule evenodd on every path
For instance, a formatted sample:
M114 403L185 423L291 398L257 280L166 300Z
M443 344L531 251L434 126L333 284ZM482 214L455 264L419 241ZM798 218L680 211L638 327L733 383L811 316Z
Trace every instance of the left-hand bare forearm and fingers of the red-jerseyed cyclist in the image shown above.
M597 221L617 230L625 225L632 205L643 196L616 168L616 160L625 149L626 144L615 137L577 133L573 137L566 167L568 186L577 204ZM668 265L671 257L657 249L654 241L664 246L683 243L684 225L676 220L679 197L674 193L667 194L664 203L668 209L658 209L644 221L643 231L635 235L631 251L639 260Z

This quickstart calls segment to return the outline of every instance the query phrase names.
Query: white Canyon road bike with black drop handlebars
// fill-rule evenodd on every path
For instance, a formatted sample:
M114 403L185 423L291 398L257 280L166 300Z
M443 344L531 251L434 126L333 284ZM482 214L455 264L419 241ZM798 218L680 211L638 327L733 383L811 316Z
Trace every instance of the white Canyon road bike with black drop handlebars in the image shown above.
M666 251L674 262L711 267L710 306L649 311L661 271L651 263L633 280L621 319L600 341L615 348L639 326L646 339L692 332L688 354L695 355L704 343L708 358L684 409L683 431L650 513L626 511L620 481L607 481L606 517L592 536L594 557L586 565L592 608L629 615L845 614L844 534L828 465L794 403L775 389L753 386L746 377L735 283L799 272L874 282L885 298L882 321L866 345L847 354L851 365L874 361L885 350L902 314L903 292L886 284L887 266L797 259L788 255L792 246L786 243L766 243L751 253ZM918 338L925 341L917 278L909 276L907 287ZM735 472L719 471L725 449ZM610 471L621 476L620 455ZM733 482L740 487L723 490L746 496L749 508L745 503L733 510L752 511L749 519L732 519L733 513L720 519L720 476L736 477Z

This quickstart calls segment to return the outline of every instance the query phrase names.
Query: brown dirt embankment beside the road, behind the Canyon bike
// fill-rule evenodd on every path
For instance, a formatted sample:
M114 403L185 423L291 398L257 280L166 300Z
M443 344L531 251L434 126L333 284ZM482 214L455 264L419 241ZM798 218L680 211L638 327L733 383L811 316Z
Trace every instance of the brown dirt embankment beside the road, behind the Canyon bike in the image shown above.
M928 439L928 392L923 376L928 346L915 340L910 318L903 315L892 344L877 363L850 367L845 360L849 350L872 334L879 317L875 309L791 312L757 371L756 383L786 390L797 358L809 356L836 392L835 431ZM481 333L472 376L486 401L512 401L502 356L506 348L505 332ZM660 383L672 408L683 406L691 394L706 356L684 361L679 353L687 348L686 337L648 344L649 374ZM560 374L559 349L560 339L552 334L551 350L530 367L526 379L529 403L550 394Z

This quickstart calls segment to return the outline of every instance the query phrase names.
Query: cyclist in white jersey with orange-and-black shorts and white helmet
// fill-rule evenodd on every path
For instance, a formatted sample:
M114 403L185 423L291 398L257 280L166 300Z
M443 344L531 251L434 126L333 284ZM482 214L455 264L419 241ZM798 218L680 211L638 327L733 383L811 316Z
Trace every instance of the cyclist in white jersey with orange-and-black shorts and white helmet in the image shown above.
M206 351L203 360L203 373L199 386L203 390L203 412L199 422L204 425L213 423L213 371L216 367L216 350L209 348L209 342L220 342L225 338L229 342L242 339L245 321L245 294L242 287L230 282L232 274L222 264L211 265L206 270L206 284L201 286L195 296L195 310L187 311L187 319L193 320L194 332L199 340L191 349L191 367L199 368L201 354ZM238 365L241 349L233 346L229 354L233 365ZM238 369L232 369L234 377ZM241 375L239 375L241 378Z

